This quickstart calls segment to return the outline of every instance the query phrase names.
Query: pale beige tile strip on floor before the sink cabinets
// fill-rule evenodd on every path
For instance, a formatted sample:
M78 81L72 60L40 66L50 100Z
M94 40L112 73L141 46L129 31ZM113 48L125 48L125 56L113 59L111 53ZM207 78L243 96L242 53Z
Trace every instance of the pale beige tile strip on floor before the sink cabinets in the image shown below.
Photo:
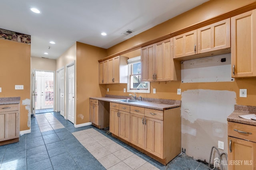
M136 170L140 168L142 170L159 170L95 129L86 129L72 134L106 169Z

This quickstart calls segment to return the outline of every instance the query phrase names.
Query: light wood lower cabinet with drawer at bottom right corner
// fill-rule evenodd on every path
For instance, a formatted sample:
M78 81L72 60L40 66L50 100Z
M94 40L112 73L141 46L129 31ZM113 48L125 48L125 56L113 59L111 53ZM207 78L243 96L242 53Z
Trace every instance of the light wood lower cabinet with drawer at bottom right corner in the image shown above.
M256 126L228 122L228 169L256 170Z

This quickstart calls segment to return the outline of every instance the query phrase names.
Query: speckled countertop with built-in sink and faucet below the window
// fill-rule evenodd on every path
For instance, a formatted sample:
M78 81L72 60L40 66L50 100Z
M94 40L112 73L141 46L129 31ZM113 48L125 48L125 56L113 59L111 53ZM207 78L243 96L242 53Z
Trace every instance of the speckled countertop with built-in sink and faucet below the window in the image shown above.
M119 103L119 104L126 104L130 106L138 106L138 107L144 107L144 108L149 108L149 109L156 109L156 110L166 110L166 109L171 109L174 107L179 107L181 104L180 100L163 100L163 99L152 99L152 98L146 98L145 100L148 101L138 101L138 102L132 102L132 103L126 103L126 102L120 102L117 100L120 99L127 99L129 98L128 96L106 96L106 97L90 97L91 99L96 99L96 100L102 100L106 102L114 102L114 103Z

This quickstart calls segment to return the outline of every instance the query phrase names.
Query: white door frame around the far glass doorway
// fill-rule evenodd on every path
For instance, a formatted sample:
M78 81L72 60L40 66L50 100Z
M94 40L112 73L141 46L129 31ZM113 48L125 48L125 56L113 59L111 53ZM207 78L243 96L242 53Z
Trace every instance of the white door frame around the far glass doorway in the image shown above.
M56 109L56 71L53 71L53 70L37 70L37 69L33 69L32 70L32 74L33 74L33 72L34 72L34 80L36 80L36 71L41 71L41 72L53 72L53 83L54 83L54 92L53 92L53 110L55 110ZM36 83L36 81L32 81L32 84L31 84L31 96L32 96L32 94L33 94L33 87L35 87L35 83ZM35 101L34 101L34 98L32 98L32 102L34 102L35 103ZM31 103L32 103L31 102ZM32 105L33 106L33 105ZM36 107L35 105L34 105L34 107ZM31 107L31 114L33 114L33 109L36 111L36 108L32 108Z

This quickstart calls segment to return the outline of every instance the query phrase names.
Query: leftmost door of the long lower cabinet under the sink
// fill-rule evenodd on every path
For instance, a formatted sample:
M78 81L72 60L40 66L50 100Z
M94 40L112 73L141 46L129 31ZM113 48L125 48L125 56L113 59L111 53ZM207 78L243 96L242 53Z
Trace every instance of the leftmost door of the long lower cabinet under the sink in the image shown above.
M110 122L109 131L114 135L118 136L119 133L119 111L116 109L110 109Z

